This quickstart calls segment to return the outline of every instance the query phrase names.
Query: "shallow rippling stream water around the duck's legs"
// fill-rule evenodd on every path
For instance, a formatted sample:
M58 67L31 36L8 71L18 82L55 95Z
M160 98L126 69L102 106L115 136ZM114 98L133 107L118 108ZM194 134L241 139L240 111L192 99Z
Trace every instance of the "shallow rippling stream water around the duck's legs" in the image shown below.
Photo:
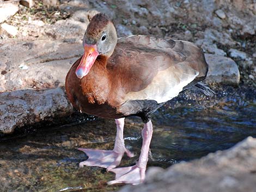
M256 137L256 105L230 101L218 107L167 106L153 118L154 134L148 166L162 166L224 150L252 135ZM126 147L136 157L124 157L121 166L134 164L142 144L141 120L126 120ZM115 191L108 186L114 174L96 167L78 168L86 155L78 147L112 149L115 125L96 120L78 125L45 128L0 140L0 191Z

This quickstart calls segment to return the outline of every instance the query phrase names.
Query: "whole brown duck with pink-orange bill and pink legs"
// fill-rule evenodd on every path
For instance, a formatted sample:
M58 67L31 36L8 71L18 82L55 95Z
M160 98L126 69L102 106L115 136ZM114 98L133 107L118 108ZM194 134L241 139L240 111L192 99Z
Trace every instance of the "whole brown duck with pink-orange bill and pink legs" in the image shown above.
M104 14L90 21L83 47L83 56L66 76L68 98L83 113L115 119L117 136L111 151L79 148L89 157L80 166L100 166L114 172L115 180L108 184L141 183L153 133L151 115L205 78L208 64L204 54L187 41L145 35L117 38L113 23ZM123 139L124 119L132 115L145 123L141 154L136 165L115 168L124 153L133 156Z

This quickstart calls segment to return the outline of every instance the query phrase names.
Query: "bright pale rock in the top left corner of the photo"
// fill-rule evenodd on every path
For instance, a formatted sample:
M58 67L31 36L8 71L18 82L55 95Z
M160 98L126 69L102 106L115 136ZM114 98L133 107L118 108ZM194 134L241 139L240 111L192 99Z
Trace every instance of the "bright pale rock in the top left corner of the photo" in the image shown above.
M14 3L3 3L0 7L0 23L17 13L19 7Z

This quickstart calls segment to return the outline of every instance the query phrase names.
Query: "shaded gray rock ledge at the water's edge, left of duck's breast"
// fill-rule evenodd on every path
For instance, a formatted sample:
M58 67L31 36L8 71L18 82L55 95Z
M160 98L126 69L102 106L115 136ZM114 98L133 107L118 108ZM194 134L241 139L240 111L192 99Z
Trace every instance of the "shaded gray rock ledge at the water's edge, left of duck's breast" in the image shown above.
M0 94L0 132L11 133L17 127L72 113L63 89L35 91L31 89Z

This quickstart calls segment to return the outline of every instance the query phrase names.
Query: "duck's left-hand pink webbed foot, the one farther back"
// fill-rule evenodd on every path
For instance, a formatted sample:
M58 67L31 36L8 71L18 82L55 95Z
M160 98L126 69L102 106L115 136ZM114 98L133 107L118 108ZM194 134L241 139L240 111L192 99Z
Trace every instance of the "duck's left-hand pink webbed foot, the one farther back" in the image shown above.
M83 151L87 154L88 159L79 164L80 167L86 166L99 166L101 168L107 168L107 171L117 167L124 153L128 157L133 157L133 153L125 148L124 152L114 152L113 150L93 150L90 148L78 148L78 150Z

